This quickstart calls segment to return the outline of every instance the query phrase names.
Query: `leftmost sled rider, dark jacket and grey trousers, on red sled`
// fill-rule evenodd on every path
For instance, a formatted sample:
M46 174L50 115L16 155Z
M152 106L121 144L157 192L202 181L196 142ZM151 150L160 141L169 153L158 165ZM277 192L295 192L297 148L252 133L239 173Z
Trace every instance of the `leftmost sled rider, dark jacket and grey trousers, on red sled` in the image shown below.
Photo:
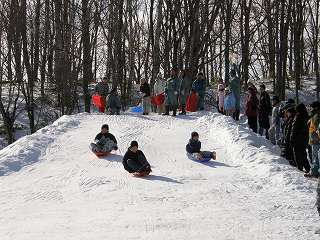
M91 150L94 153L106 153L112 150L117 151L118 145L115 136L109 133L109 126L102 125L101 132L95 137L94 143L91 143Z

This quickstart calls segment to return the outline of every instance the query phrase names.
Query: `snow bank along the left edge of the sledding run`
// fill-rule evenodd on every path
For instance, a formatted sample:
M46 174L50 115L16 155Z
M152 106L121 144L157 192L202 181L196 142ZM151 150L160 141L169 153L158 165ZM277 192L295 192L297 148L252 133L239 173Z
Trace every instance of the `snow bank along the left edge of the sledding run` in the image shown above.
M0 176L19 171L22 167L39 162L57 136L80 124L75 116L63 116L52 125L32 135L20 138L0 151Z

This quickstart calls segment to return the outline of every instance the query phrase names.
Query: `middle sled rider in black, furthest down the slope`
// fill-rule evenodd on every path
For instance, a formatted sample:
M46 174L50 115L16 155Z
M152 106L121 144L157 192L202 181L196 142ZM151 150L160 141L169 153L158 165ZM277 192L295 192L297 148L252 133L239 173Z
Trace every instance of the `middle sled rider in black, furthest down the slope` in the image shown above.
M123 167L129 173L148 175L150 172L152 172L151 166L143 152L139 150L138 147L137 141L131 142L129 149L122 160Z

